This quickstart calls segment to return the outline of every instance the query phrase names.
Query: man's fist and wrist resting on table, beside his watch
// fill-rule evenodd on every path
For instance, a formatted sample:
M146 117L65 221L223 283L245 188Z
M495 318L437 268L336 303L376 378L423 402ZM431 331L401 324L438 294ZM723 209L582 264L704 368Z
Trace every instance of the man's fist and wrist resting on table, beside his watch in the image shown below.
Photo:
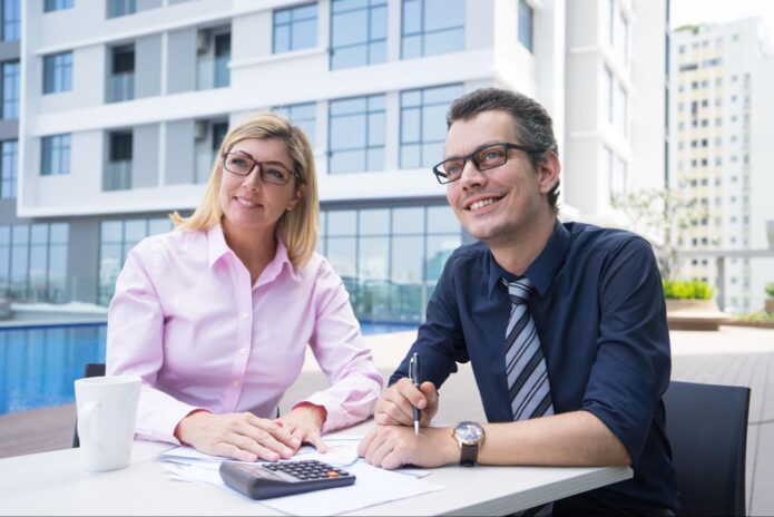
M460 460L460 446L451 428L427 428L419 436L409 427L378 426L357 446L365 461L385 469L403 465L442 467Z

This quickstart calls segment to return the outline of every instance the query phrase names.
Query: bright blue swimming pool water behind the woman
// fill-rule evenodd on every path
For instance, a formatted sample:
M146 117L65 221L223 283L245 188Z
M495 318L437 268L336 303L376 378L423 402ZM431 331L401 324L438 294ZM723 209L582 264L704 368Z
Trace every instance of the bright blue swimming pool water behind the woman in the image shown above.
M363 334L417 329L363 323ZM75 401L84 365L105 362L106 324L0 329L0 414Z

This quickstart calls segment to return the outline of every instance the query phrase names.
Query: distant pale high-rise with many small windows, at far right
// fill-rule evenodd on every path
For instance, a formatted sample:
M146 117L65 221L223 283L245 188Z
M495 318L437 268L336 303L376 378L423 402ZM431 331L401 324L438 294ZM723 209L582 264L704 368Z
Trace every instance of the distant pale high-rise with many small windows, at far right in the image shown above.
M672 45L670 184L700 215L680 243L692 252L680 275L715 285L727 312L761 310L774 261L744 252L770 247L765 225L774 221L774 67L763 25L747 19L685 27ZM697 255L702 251L707 255ZM722 263L718 251L728 255Z

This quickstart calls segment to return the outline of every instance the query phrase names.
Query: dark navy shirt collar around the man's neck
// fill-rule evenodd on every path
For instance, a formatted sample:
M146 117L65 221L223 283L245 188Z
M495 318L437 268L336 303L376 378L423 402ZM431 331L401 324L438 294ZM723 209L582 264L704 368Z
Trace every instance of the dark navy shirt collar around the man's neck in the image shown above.
M527 267L525 276L532 282L535 289L545 295L548 289L553 282L553 277L561 267L567 256L567 251L570 247L570 232L565 227L559 220L557 220L553 226L553 233L551 237L546 243L546 247L542 248L537 258ZM517 279L513 273L506 271L500 264L494 260L492 252L488 250L488 269L489 269L489 294L490 296L494 292L496 286L500 283L500 279L506 279L508 282L512 282Z

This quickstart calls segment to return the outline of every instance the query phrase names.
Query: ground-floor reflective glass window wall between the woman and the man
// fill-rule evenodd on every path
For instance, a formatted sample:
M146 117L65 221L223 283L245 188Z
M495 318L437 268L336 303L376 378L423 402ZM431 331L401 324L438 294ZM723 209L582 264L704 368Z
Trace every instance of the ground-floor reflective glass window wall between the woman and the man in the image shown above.
M361 321L422 321L447 258L462 243L448 205L322 211L320 245Z

